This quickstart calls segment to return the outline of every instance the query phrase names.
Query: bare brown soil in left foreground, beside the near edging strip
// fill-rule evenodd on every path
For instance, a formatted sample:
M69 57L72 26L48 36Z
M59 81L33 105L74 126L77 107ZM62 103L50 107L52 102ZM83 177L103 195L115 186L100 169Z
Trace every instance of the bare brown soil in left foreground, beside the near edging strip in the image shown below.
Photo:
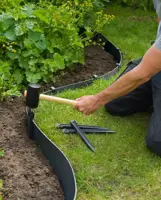
M63 200L58 178L26 131L23 98L0 103L0 178L3 200Z

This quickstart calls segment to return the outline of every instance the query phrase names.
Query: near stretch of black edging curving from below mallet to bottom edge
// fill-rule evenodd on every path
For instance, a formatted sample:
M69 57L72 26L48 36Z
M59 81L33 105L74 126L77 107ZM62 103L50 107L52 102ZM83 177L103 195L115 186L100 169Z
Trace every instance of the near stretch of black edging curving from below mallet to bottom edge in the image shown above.
M34 113L27 108L28 136L36 141L49 160L62 186L65 200L75 200L77 193L74 170L64 153L38 128Z

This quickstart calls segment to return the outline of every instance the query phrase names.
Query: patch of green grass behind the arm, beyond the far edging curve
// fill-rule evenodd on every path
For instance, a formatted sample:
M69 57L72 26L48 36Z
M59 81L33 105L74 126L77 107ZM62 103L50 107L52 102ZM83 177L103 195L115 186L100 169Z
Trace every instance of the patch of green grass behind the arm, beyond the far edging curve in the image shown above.
M143 56L156 37L155 13L123 9L120 6L110 6L106 12L114 14L115 20L102 33L120 48L123 63Z

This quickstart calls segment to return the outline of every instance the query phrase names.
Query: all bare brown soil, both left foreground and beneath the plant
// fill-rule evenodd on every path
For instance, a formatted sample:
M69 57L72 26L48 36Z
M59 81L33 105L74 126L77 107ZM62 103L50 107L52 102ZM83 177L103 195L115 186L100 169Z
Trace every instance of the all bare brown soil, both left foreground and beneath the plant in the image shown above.
M54 86L87 80L115 67L113 57L100 46L86 47L85 64L66 69L63 75L62 71L57 73L59 78ZM0 102L0 148L5 151L5 156L0 158L3 200L64 199L58 177L35 142L27 136L23 97Z

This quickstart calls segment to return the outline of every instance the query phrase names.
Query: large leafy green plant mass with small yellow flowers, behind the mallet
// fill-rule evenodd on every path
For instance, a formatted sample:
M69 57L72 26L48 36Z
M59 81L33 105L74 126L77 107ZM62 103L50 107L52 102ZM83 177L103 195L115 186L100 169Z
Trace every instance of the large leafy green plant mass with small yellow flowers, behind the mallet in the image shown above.
M91 0L53 6L26 4L0 15L0 59L17 84L53 81L53 73L84 63L84 45L113 16L94 11ZM79 34L85 29L85 36Z

